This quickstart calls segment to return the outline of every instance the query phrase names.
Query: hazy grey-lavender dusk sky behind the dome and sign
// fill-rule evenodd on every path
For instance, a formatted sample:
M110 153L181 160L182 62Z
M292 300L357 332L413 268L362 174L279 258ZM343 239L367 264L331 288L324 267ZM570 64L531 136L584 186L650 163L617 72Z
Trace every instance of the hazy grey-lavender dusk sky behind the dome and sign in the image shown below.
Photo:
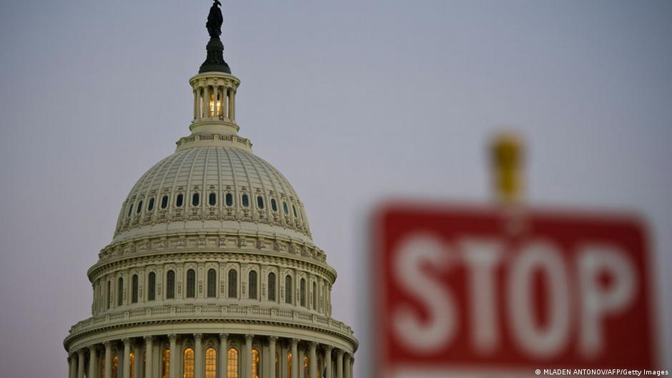
M189 132L209 4L0 2L4 376L66 374L62 341L90 316L87 269L134 182ZM504 129L527 146L526 204L645 220L670 349L672 2L225 0L223 12L239 134L290 180L339 273L333 316L360 339L357 377L372 347L372 206L492 203L486 146Z

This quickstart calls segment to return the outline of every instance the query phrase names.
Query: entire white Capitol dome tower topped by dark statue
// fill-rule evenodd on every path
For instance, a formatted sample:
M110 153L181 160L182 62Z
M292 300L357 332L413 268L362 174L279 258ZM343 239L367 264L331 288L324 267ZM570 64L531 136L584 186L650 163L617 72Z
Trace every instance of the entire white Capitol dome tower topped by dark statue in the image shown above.
M133 186L87 272L92 317L64 340L69 378L352 378L337 274L290 182L238 135L221 18L215 1L191 134Z

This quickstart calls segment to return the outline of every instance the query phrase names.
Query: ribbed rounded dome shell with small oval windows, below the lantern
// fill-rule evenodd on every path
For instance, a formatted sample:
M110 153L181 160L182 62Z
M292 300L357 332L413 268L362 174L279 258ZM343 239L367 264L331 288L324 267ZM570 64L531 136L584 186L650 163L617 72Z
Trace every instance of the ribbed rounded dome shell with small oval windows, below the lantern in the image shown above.
M122 204L113 243L194 230L312 243L305 209L285 176L251 151L225 145L179 148L152 166Z

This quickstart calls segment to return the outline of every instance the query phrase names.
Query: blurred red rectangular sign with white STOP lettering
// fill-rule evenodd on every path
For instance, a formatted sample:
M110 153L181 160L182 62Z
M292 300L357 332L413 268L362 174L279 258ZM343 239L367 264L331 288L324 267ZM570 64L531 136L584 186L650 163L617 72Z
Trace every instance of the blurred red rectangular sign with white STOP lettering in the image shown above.
M387 204L373 230L380 377L658 366L636 219Z

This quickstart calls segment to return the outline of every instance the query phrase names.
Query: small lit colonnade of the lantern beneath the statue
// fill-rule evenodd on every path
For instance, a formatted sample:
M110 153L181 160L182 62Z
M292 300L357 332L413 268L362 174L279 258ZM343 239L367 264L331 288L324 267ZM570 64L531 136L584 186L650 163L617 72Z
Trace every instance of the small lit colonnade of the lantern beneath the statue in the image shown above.
M220 119L236 121L236 89L224 85L194 88L194 121Z

